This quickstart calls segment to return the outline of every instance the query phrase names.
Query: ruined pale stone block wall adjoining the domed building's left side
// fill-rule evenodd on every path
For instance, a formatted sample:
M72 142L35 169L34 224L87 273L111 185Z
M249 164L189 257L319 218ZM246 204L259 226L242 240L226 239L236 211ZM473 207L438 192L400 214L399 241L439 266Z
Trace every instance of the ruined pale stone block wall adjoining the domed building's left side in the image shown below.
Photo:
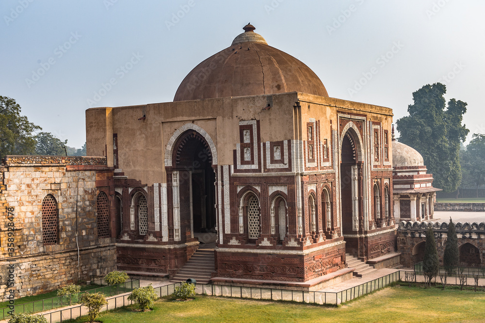
M7 263L14 264L16 297L116 268L114 238L97 237L97 177L106 168L102 157L5 158L0 168L0 273ZM51 244L44 243L42 232L42 203L48 194L58 209L57 242ZM12 223L13 237L8 230ZM2 275L0 293L7 290L7 282Z

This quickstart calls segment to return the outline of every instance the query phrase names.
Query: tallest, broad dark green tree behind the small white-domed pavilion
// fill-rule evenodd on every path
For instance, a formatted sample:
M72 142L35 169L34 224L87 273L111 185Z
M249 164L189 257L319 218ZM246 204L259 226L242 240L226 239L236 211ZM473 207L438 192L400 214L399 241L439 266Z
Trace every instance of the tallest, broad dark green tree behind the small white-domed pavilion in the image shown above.
M469 132L462 125L467 103L451 99L446 107L445 93L446 86L441 83L423 86L413 93L409 115L396 123L399 141L420 152L435 178L434 186L453 192L462 177L459 151Z

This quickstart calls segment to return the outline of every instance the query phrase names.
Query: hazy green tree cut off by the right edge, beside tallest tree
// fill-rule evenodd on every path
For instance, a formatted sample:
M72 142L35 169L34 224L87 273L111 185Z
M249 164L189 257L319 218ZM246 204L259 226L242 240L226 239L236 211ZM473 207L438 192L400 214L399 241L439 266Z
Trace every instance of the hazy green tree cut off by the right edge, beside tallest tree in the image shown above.
M473 139L462 150L461 166L463 168L462 187L473 185L476 188L485 183L485 135L473 134Z

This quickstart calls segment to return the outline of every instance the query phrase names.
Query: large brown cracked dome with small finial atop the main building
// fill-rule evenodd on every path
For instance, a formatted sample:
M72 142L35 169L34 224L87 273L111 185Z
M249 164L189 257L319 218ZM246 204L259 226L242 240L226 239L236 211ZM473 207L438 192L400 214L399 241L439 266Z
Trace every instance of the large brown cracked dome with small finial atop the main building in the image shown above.
M293 56L268 46L248 24L232 45L185 77L174 101L303 92L328 97L318 76Z

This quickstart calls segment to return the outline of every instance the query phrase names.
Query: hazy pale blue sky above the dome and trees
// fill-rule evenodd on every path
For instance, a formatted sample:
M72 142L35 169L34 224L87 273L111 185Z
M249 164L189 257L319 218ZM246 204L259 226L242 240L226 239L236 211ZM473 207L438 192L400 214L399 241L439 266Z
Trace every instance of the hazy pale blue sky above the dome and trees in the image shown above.
M396 120L412 92L441 81L447 99L468 103L470 134L485 133L483 0L1 0L0 12L0 95L78 148L86 109L172 101L248 22L330 97Z

